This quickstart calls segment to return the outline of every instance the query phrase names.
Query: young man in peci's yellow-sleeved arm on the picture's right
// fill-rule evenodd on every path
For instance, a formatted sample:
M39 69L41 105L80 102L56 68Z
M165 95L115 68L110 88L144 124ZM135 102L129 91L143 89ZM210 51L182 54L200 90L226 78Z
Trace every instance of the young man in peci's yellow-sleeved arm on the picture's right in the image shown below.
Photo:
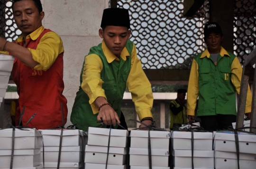
M132 95L132 101L135 104L135 110L139 120L143 118L153 118L151 109L153 106L153 93L151 84L149 83L140 60L137 58L135 45L132 50L131 70L126 84L129 92ZM151 124L151 121L143 121L146 124Z

